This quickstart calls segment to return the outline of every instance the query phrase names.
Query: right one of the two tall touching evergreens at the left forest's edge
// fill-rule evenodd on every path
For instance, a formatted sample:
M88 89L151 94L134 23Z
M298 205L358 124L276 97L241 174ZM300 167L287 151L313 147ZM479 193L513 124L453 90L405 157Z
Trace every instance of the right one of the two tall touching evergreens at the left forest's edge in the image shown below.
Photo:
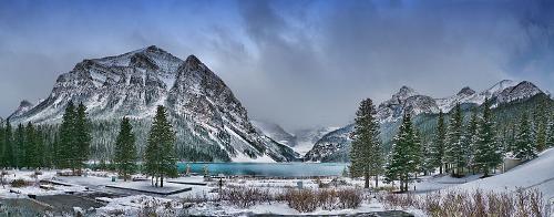
M85 162L89 159L89 149L91 147L91 128L90 122L86 117L86 106L83 103L80 103L74 120L74 145L72 148L73 155L73 169L78 168L81 172L81 168L85 166Z

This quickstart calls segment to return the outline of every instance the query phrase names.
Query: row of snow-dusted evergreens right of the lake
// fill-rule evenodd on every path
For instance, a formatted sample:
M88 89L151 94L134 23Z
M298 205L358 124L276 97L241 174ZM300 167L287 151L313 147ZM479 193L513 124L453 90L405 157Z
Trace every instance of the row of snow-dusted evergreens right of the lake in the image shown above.
M408 190L408 184L421 174L438 172L463 177L468 173L482 173L484 177L490 176L504 157L525 162L554 146L552 107L544 102L537 103L533 118L524 111L515 118L517 123L502 130L495 123L489 99L482 111L473 108L468 120L456 104L448 115L450 118L439 113L430 142L422 142L410 112L406 111L391 151L384 153L376 107L370 99L363 100L350 135L350 176L363 177L366 188L371 177L378 187L379 176L384 176L388 183L398 180L401 192Z

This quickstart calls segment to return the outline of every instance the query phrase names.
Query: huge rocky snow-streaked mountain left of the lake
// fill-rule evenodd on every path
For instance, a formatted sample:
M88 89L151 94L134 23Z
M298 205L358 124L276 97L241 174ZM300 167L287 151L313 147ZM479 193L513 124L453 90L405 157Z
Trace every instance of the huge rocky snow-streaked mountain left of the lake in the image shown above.
M45 100L32 108L20 106L10 120L58 124L70 101L86 105L93 122L117 127L123 116L133 118L140 145L156 106L166 106L185 159L198 159L191 153L204 156L198 161L287 162L298 156L256 132L230 89L196 56L183 61L153 45L78 63L58 78Z

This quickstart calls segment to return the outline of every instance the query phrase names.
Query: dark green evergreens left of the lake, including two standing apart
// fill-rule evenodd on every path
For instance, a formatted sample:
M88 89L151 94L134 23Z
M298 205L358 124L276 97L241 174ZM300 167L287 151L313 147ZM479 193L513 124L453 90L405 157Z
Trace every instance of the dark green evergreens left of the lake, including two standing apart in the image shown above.
M127 180L132 174L142 172L152 177L152 184L163 187L164 177L177 175L175 132L164 106L158 106L148 133L142 164L137 153L136 136L131 118L123 117L115 141L113 165ZM81 175L89 166L91 151L91 122L86 106L69 102L62 123L55 130L51 126L35 126L31 122L19 124L16 130L9 120L0 126L0 167L4 169L71 169ZM142 170L138 168L142 167Z

